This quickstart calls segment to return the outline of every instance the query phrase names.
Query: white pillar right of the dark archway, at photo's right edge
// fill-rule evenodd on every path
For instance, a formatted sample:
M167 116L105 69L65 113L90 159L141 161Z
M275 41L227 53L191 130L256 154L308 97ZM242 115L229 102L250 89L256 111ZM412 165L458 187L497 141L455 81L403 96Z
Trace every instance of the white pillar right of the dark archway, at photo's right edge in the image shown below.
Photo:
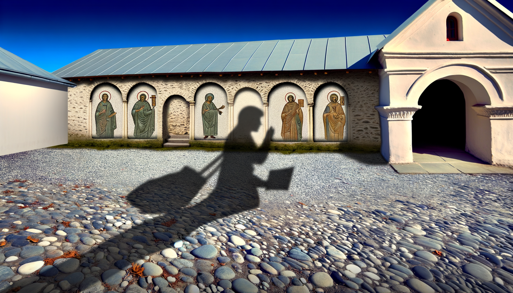
M491 162L488 163L513 165L513 106L474 105L472 109L481 119L489 120L491 133L483 133L491 135Z

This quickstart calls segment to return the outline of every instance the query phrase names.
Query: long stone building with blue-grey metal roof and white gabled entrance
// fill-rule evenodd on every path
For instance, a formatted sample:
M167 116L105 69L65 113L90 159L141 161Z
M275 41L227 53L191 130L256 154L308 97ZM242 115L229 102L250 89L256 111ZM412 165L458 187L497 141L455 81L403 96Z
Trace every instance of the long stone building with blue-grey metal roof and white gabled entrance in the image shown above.
M101 49L54 74L77 83L70 140L95 139L96 95L109 89L121 128L110 139L133 139L133 99L144 88L155 101L148 139L204 140L201 105L212 93L216 107L226 106L215 140L236 140L237 114L254 106L264 114L253 139L272 127L271 141L280 142L292 92L304 102L297 141L329 143L327 93L337 92L344 115L332 121L345 123L332 128L344 129L337 143L381 144L390 163L410 163L412 139L436 145L460 136L477 158L513 165L512 57L513 14L495 0L429 0L390 35Z

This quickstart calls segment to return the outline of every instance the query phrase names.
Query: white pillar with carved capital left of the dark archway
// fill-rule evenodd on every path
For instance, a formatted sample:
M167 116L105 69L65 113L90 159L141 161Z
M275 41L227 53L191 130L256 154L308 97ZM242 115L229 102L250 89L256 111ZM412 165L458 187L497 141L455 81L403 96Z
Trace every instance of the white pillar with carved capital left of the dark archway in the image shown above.
M411 120L422 106L376 106L381 120L381 154L389 163L412 163Z

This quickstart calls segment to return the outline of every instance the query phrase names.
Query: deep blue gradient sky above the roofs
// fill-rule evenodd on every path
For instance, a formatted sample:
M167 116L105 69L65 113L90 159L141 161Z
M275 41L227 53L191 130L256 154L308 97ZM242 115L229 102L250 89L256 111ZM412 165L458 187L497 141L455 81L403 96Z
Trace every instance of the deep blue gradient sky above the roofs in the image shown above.
M52 72L97 49L389 34L424 3L0 0L0 47Z

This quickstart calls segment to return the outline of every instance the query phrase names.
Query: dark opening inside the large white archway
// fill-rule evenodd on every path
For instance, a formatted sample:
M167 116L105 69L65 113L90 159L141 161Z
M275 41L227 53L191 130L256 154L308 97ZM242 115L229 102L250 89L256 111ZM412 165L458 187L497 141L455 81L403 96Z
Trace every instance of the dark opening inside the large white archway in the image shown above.
M411 121L414 149L465 149L465 97L457 84L433 82L420 96L419 105L422 109Z

